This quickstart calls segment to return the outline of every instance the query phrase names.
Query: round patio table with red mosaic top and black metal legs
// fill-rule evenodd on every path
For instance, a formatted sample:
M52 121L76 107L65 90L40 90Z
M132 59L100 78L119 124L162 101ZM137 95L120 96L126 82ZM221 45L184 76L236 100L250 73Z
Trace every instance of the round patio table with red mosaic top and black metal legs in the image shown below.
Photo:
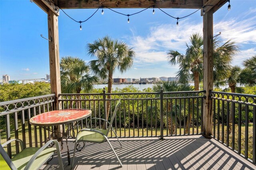
M42 113L40 115L36 115L29 120L29 123L31 125L40 126L42 128L45 128L46 130L50 130L47 127L62 125L64 128L65 124L68 124L68 127L70 127L70 124L72 124L73 122L76 122L75 125L73 125L71 129L67 128L66 132L65 132L65 130L63 130L63 132L62 132L61 147L63 149L62 141L64 138L66 138L66 145L67 145L67 150L68 150L69 131L73 130L73 132L74 132L74 127L76 127L76 125L78 125L78 121L82 121L83 119L86 119L90 115L92 115L92 111L87 110L87 109L64 109L64 110L58 110L58 111L49 111L46 113ZM52 131L54 131L54 130L52 129ZM72 136L72 137L74 137L74 136ZM67 153L68 153L68 165L70 165L69 150Z

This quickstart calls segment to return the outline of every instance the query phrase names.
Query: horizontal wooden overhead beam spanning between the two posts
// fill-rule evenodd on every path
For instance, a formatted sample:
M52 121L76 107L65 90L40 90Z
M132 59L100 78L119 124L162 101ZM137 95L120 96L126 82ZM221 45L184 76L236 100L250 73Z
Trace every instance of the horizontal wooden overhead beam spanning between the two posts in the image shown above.
M190 8L199 9L203 6L202 0L58 0L62 9L76 8Z

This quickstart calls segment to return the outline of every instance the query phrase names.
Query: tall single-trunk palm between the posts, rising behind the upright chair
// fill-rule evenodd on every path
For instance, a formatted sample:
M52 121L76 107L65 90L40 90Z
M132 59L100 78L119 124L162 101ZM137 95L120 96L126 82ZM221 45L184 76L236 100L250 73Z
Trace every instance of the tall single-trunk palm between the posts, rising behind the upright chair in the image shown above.
M95 60L90 61L92 72L102 80L108 81L108 93L112 92L113 73L118 69L124 73L132 67L135 52L126 43L113 40L109 36L87 44L87 51ZM110 95L107 96L110 99ZM108 119L110 102L106 105ZM105 127L105 126L104 126Z

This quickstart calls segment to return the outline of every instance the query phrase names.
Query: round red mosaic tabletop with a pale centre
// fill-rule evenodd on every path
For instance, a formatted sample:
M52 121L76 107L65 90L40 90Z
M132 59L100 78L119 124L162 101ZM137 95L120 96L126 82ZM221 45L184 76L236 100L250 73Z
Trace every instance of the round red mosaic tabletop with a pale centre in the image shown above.
M50 111L32 117L29 122L35 126L63 125L89 117L92 111L86 109L64 109Z

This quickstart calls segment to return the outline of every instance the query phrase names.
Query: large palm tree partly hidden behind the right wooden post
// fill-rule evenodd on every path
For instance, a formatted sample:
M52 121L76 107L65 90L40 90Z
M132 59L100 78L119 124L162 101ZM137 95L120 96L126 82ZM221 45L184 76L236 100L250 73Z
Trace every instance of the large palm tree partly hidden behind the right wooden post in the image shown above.
M190 36L190 43L186 43L186 53L183 55L178 51L170 50L168 54L168 63L171 65L179 65L177 71L178 80L180 83L188 83L190 79L194 80L194 90L199 90L199 82L203 79L203 38L198 33ZM226 70L230 67L230 62L233 56L238 51L238 46L235 42L228 40L226 43L220 45L222 41L217 38L214 39L214 81L222 80L226 77ZM188 127L192 120L192 115L187 120ZM188 129L187 129L188 130ZM187 131L188 132L188 131Z

